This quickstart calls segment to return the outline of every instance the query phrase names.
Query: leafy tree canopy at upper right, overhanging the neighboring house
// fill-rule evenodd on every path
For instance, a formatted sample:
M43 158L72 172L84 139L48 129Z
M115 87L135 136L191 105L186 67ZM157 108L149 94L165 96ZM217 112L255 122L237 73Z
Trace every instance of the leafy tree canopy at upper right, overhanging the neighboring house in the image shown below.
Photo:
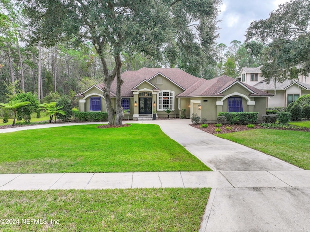
M270 82L295 79L310 72L310 1L291 0L251 23L246 33L249 49L263 50L263 77ZM261 46L261 48L263 48Z

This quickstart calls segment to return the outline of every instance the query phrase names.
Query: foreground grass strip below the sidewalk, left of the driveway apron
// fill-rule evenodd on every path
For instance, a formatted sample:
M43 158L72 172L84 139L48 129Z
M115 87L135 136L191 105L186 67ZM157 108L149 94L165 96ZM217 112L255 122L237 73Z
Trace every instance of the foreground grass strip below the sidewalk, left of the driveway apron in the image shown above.
M198 231L210 189L0 191L0 231ZM21 219L43 224L22 224ZM54 224L45 224L44 220Z

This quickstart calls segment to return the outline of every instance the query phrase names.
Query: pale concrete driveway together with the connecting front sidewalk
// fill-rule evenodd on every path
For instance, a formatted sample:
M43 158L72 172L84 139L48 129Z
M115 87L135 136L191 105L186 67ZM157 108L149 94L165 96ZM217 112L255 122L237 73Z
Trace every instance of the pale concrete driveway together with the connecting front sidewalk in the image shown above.
M0 190L211 187L200 232L310 232L309 170L193 128L190 120L124 123L158 124L214 171L8 174L0 175ZM76 124L52 126L64 125Z

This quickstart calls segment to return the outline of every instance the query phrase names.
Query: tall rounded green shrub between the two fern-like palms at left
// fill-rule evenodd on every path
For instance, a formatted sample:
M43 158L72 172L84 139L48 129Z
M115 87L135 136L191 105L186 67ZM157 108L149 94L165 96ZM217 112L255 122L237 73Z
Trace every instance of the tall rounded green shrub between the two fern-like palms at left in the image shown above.
M36 112L39 105L38 96L32 92L19 93L14 100L30 102L30 104L17 109L17 120L24 119L26 123L30 123L31 114Z

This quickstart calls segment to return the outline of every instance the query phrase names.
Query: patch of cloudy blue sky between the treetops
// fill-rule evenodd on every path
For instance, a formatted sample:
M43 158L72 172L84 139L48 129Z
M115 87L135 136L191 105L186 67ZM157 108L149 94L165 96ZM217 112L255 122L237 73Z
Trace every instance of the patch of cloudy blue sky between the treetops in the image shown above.
M245 40L245 33L250 23L259 19L269 18L271 11L278 8L289 0L222 0L221 13L218 16L217 32L219 38L217 43L230 45L233 40L242 43Z

